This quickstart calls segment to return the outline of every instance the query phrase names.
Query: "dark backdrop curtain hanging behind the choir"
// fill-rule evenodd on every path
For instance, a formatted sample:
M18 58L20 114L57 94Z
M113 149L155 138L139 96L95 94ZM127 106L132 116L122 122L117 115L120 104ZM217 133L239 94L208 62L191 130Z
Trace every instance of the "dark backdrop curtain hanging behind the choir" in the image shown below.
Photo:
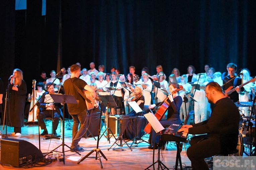
M20 11L14 0L2 2L0 77L6 85L14 68L24 72L27 84L41 70L49 77L60 45L66 68L80 62L89 69L95 62L105 72L115 66L127 74L133 65L140 75L147 66L153 75L162 65L170 75L174 67L187 73L188 65L203 72L205 63L224 72L234 62L256 74L255 1L56 0L47 1L46 16L41 0L27 0Z

